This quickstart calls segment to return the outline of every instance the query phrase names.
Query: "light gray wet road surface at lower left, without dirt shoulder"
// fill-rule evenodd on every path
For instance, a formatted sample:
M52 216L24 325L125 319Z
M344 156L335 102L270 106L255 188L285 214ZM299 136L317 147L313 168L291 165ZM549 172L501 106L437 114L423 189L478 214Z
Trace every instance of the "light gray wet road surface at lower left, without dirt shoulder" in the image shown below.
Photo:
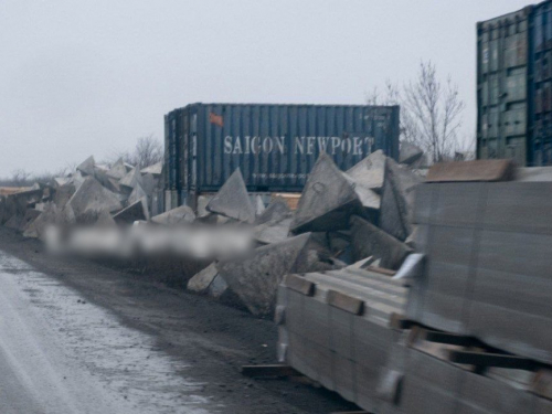
M185 380L189 367L155 348L0 251L0 413L219 412L198 395L203 384Z

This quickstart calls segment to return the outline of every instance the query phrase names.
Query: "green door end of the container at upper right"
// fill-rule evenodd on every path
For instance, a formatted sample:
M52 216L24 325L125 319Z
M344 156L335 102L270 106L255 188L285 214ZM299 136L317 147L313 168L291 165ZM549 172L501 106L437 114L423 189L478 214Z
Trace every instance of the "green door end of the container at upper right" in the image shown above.
M478 158L527 163L532 8L478 24Z

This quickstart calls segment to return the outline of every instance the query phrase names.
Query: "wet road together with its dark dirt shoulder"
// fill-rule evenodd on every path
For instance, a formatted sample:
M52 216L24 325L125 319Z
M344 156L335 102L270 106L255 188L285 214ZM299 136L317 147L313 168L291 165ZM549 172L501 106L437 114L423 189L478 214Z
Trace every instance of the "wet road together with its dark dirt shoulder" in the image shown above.
M0 226L0 414L325 414L354 411L276 363L277 327L192 295L182 269L49 255Z

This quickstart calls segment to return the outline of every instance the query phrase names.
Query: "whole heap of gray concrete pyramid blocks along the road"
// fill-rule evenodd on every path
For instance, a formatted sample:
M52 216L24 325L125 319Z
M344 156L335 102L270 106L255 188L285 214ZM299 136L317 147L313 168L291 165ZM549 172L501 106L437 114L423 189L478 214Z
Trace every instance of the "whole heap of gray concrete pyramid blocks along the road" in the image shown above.
M210 257L214 263L202 272L195 269L193 277L188 275L184 285L214 298L233 296L235 302L259 316L274 312L277 286L288 273L328 272L348 266L381 266L391 272L412 252L403 240L383 229L393 223L384 210L390 210L391 217L402 225L408 212L406 219L399 213L405 211L403 204L411 202L411 189L420 179L417 176L412 179L406 167L397 166L381 151L348 171L339 170L322 153L300 198L273 194L268 205L265 205L268 194L247 193L242 172L236 169L216 194L199 197L197 213L182 205L152 216L153 194L162 188L161 172L162 164L139 169L119 159L112 166L99 166L89 157L49 191L26 189L3 200L6 219L2 220L35 237L41 236L43 223L105 229L129 227L135 223L183 230L242 229L251 234L253 242L248 254ZM402 198L389 197L388 187L393 194L401 190ZM295 210L290 210L289 200L294 201ZM41 205L43 212L39 211ZM394 226L388 229L395 231ZM401 230L407 233L410 227L403 225ZM185 261L193 262L195 257ZM205 258L201 261L198 257L198 263Z

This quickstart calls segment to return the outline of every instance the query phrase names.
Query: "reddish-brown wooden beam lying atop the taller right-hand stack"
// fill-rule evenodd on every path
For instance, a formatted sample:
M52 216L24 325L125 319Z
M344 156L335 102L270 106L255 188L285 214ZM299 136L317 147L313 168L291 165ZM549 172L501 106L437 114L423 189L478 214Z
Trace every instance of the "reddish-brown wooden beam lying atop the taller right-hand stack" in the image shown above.
M436 163L426 182L511 181L516 168L511 160L476 160Z

